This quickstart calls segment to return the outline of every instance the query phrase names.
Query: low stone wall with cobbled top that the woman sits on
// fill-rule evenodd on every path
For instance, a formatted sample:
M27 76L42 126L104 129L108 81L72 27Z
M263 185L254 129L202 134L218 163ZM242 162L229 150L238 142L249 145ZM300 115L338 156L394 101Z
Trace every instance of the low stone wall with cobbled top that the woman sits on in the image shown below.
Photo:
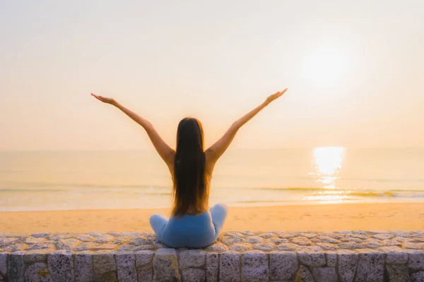
M424 282L424 232L227 232L199 250L150 233L0 234L0 281Z

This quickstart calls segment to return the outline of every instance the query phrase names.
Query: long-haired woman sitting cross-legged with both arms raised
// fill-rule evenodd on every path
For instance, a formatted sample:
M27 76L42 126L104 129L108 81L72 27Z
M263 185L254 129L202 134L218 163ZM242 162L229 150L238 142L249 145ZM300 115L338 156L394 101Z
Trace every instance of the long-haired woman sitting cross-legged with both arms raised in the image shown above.
M167 164L173 182L174 207L170 219L160 214L150 222L158 239L171 247L206 247L216 241L223 228L227 207L216 204L208 209L213 167L230 145L237 131L287 89L276 92L256 109L232 123L215 144L204 149L204 132L196 118L184 118L177 130L177 149L168 146L153 125L112 98L92 95L101 102L116 106L147 132L153 146Z

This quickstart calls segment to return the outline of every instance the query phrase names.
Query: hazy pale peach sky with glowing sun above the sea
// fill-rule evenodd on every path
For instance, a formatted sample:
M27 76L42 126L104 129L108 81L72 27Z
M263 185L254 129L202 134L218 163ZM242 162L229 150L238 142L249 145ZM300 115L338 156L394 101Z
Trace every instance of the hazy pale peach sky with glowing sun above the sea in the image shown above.
M0 150L422 147L424 1L0 1Z

